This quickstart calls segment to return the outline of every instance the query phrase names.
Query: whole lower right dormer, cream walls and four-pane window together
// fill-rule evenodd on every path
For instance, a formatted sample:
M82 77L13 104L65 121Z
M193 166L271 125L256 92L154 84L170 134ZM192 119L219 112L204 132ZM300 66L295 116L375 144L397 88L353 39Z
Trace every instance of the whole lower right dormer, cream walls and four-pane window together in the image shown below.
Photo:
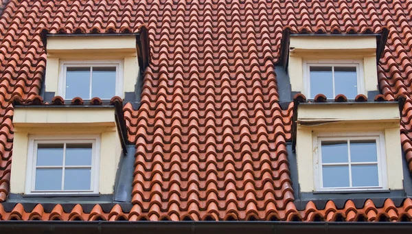
M398 102L295 104L301 192L403 189Z

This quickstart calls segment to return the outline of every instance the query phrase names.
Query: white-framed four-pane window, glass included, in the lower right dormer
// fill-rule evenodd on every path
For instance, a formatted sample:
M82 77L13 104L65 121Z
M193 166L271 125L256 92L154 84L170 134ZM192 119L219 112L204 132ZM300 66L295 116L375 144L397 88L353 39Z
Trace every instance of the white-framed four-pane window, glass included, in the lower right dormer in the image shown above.
M317 190L387 188L383 132L345 137L321 133L314 136L314 144L314 161L319 162L314 165Z

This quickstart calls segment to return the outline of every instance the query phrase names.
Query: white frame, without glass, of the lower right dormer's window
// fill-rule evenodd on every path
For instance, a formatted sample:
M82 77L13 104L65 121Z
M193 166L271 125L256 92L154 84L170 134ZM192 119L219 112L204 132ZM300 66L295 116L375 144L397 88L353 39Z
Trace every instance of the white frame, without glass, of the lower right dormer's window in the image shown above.
M374 191L384 190L387 185L387 162L385 151L385 135L383 132L319 132L314 133L313 138L313 165L314 165L314 188L316 191ZM378 164L377 187L323 187L321 141L347 141L347 140L376 140L376 153ZM348 149L349 150L349 149ZM351 163L349 161L349 163ZM338 164L338 163L336 163ZM350 180L352 180L350 170Z

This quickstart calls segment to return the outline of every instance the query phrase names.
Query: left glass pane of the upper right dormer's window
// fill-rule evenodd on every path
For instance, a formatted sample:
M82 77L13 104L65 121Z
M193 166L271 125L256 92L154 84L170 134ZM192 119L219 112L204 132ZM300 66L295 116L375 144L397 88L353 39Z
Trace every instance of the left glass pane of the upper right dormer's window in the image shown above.
M332 67L310 67L310 98L322 93L328 98L333 96Z

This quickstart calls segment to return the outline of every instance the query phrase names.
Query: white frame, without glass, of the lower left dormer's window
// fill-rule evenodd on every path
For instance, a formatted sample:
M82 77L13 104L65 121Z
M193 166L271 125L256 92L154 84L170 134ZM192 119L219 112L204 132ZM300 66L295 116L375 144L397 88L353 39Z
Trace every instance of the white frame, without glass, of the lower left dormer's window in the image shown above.
M91 189L82 191L36 191L36 154L38 143L92 143ZM36 195L93 195L99 193L100 175L100 135L30 135L27 152L27 172L25 178L25 194ZM64 167L64 162L63 162ZM62 181L64 182L64 174Z

